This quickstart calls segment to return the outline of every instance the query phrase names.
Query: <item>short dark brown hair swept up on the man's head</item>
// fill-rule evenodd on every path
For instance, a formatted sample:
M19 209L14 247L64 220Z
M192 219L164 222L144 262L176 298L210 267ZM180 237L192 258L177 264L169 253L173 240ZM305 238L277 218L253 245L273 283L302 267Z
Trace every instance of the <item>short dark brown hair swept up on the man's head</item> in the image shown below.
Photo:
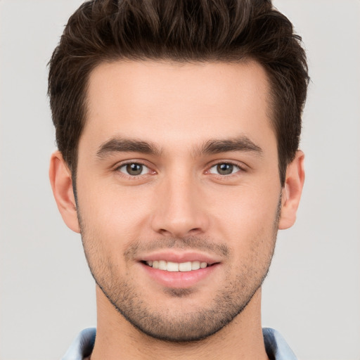
M260 63L271 84L281 184L299 146L309 82L301 38L270 0L92 0L70 17L49 62L56 142L72 174L86 86L104 61Z

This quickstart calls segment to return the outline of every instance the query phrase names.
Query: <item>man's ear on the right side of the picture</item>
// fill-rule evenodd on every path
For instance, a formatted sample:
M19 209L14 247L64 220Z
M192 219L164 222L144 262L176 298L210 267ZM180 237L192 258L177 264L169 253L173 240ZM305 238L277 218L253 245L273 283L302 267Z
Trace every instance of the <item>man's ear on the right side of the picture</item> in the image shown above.
M302 187L304 186L304 179L304 153L298 150L295 159L290 162L286 169L278 229L288 229L295 223L297 207L299 207Z

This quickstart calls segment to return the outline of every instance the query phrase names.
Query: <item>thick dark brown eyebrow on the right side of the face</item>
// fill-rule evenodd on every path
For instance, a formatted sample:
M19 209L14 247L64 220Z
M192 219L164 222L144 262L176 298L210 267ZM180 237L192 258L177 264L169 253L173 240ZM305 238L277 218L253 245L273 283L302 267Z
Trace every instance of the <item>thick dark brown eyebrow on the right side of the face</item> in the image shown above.
M240 136L234 139L213 139L206 141L199 153L205 155L227 153L229 151L245 151L262 156L262 148L251 141L248 136Z

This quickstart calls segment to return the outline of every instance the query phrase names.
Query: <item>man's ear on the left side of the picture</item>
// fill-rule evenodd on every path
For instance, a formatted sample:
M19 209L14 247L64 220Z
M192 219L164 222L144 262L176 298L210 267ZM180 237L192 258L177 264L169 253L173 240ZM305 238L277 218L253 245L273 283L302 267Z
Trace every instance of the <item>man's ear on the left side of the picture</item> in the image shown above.
M49 177L53 196L65 224L76 233L80 232L75 196L72 190L72 176L60 151L51 155Z

